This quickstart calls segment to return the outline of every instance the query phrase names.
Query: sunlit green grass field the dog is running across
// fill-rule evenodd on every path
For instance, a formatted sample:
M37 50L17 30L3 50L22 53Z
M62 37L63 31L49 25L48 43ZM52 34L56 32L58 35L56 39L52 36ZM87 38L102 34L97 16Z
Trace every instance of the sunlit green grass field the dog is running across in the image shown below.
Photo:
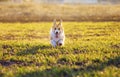
M0 77L120 77L119 22L64 22L57 48L51 25L0 23Z

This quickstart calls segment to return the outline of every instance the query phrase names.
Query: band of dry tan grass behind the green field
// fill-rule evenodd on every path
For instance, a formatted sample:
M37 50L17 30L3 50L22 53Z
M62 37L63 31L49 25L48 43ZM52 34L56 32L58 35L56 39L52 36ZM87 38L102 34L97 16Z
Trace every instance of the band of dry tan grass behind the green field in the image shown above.
M1 22L120 21L120 5L0 4Z

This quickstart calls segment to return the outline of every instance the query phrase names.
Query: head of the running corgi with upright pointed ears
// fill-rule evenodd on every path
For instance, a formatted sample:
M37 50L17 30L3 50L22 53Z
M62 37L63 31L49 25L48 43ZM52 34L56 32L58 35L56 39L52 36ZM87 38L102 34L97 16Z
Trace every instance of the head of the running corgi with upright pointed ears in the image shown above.
M56 34L56 36L63 32L62 20L60 20L58 24L56 23L56 20L54 20L52 31Z

